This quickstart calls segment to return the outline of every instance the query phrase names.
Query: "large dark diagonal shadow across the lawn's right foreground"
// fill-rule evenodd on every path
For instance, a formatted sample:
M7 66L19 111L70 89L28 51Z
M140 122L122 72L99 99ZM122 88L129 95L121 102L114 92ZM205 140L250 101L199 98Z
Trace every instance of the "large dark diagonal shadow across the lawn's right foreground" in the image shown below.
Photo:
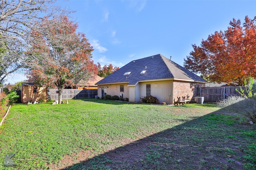
M100 100L102 102L118 103ZM181 125L133 139L92 158L85 156L86 160L62 170L256 169L245 156L248 147L256 143L256 125L240 122L239 115L227 115L230 108L232 106L202 117L191 117L190 121L182 120Z

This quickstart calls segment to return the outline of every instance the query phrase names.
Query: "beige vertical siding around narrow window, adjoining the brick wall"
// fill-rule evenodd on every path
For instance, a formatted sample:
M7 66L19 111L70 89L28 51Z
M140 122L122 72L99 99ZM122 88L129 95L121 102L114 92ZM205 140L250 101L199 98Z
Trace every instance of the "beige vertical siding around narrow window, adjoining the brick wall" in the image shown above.
M158 98L159 102L166 102L166 104L172 104L172 81L152 81L152 82L140 82L140 97L146 96L146 84L151 84L151 95Z

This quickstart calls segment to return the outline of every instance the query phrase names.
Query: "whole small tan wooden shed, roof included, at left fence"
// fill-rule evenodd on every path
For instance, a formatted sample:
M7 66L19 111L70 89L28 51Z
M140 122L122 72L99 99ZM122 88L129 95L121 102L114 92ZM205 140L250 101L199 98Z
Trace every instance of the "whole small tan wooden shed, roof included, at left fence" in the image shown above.
M34 102L38 100L46 100L47 90L43 86L35 86L34 83L21 84L21 102Z

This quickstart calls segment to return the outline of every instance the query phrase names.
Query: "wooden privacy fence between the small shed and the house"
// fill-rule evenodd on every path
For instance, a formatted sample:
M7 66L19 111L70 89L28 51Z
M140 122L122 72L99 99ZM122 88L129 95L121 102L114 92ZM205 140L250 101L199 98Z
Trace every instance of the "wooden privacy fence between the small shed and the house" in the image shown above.
M48 98L50 100L59 99L59 91L56 89L48 90ZM94 98L98 95L98 89L63 89L62 99L83 99Z

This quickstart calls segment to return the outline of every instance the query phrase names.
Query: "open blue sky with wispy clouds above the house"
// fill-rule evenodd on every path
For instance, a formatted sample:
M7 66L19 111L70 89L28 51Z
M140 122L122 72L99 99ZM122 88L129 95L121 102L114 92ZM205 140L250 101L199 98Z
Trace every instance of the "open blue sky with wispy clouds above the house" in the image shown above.
M183 66L184 58L235 18L256 16L254 0L57 0L86 34L94 63L122 67L132 60L162 54ZM10 77L9 82L18 82ZM22 76L18 76L22 79ZM23 78L24 79L24 78Z

